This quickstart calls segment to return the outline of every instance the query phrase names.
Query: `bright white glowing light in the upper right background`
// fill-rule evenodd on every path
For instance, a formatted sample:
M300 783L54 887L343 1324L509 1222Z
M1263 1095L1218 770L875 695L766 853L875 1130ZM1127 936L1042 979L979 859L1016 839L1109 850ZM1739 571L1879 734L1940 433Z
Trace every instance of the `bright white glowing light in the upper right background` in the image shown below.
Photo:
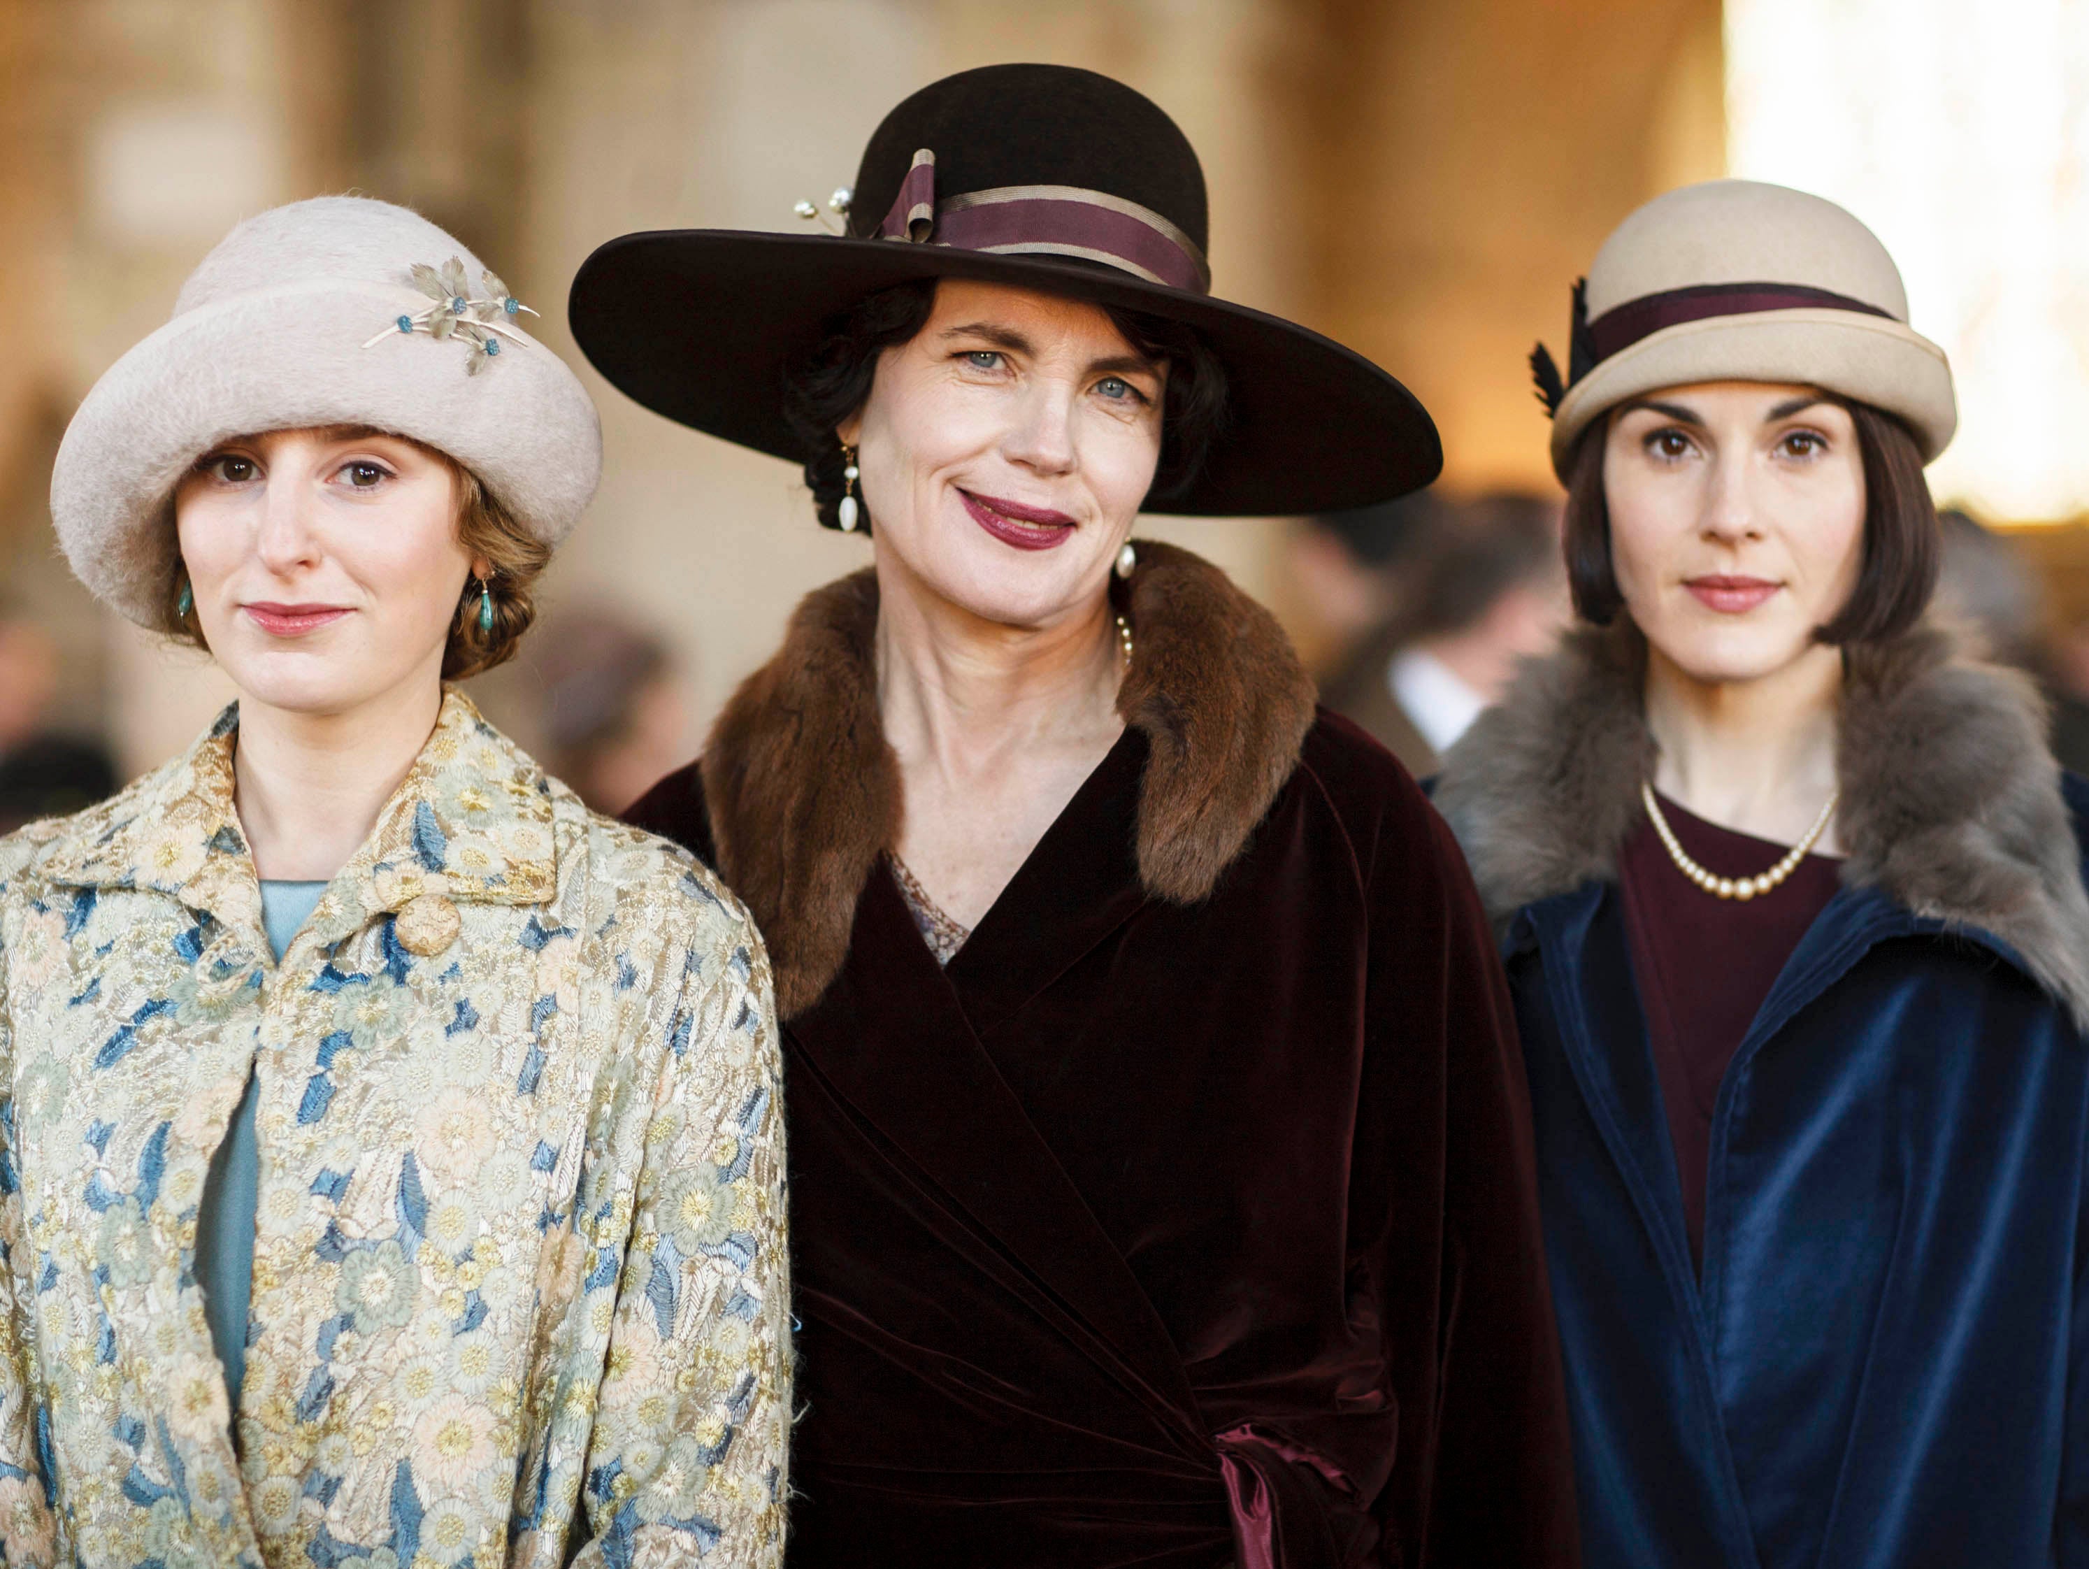
M1951 355L1939 497L2089 512L2089 4L1728 0L1728 163L1842 203Z

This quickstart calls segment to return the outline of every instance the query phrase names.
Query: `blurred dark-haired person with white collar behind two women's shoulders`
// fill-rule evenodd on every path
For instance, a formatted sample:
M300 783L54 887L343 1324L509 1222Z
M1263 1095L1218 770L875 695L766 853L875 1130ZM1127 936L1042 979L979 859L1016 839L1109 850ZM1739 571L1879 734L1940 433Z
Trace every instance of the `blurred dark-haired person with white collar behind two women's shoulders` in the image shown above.
M1437 504L1389 562L1402 610L1331 681L1322 702L1425 779L1494 704L1519 658L1567 620L1558 501L1492 493Z

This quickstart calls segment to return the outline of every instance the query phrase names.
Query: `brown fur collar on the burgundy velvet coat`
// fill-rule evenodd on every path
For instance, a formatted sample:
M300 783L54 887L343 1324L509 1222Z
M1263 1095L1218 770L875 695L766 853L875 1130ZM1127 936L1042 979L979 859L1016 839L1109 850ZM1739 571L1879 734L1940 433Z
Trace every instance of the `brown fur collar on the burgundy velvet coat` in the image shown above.
M1139 654L1118 712L1145 731L1139 880L1195 905L1297 767L1314 687L1276 618L1210 562L1141 541ZM821 999L848 955L863 880L900 834L898 760L877 717L877 579L815 589L704 746L719 873L769 940L777 1009Z

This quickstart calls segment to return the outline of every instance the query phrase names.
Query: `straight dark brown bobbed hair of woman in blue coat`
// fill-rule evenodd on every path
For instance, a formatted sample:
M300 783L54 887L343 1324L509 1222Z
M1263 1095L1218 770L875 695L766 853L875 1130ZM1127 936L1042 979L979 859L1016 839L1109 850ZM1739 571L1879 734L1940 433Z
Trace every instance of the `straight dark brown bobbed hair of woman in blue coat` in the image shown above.
M1941 526L1928 481L1922 478L1922 449L1891 414L1832 397L1849 409L1857 426L1857 455L1863 462L1863 564L1857 587L1834 620L1815 627L1822 643L1876 643L1916 625L1937 591ZM1602 449L1611 420L1592 420L1575 441L1567 468L1567 587L1581 620L1609 627L1625 608L1611 560L1611 504L1602 489Z

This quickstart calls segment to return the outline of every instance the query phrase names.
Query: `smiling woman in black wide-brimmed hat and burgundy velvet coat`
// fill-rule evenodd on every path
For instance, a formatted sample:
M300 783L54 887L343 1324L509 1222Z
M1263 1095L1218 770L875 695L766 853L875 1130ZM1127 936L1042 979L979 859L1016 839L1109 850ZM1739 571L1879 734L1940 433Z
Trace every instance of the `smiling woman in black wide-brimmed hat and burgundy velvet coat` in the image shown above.
M574 282L616 384L869 533L635 809L777 963L798 1565L1573 1554L1456 846L1258 604L1128 543L1423 485L1435 430L1214 301L1203 236L1159 109L992 67L892 111L848 238L635 234Z

